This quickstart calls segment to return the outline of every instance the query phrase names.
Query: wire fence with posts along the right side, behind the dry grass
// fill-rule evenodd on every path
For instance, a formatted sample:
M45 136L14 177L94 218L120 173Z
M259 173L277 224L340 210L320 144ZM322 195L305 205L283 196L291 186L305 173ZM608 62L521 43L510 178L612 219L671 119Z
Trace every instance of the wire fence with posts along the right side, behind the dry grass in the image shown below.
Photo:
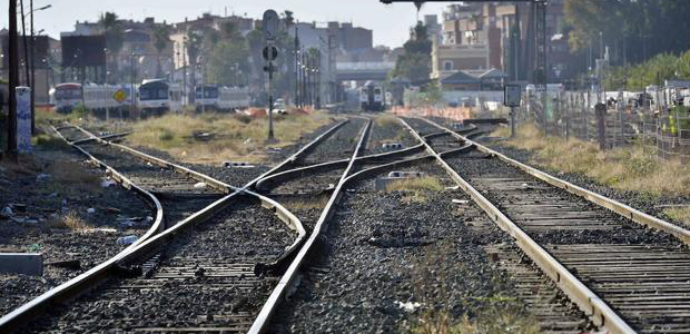
M533 119L546 136L579 138L599 143L603 149L640 146L661 158L690 160L690 115L683 106L658 105L654 100L627 98L623 92L614 98L611 92L602 100L597 92L564 91L536 92L525 96L520 108L522 119ZM600 132L601 131L601 132Z

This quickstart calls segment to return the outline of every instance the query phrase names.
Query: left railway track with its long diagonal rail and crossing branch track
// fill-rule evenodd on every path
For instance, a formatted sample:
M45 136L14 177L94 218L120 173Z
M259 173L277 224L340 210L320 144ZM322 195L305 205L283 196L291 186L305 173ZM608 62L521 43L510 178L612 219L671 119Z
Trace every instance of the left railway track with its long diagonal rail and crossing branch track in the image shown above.
M156 222L144 237L117 256L4 315L0 318L0 332L11 332L19 328L30 332L88 332L89 326L97 326L101 330L142 328L145 332L157 332L165 327L166 331L172 332L177 330L194 332L199 331L204 325L209 325L209 327L203 327L201 331L215 331L215 325L227 324L230 320L236 321L236 326L233 328L243 332L244 330L238 328L248 327L256 316L254 311L258 311L256 308L262 306L262 303L257 304L256 302L260 299L259 297L247 302L245 292L268 294L277 283L275 278L267 277L263 272L257 273L257 267L275 265L282 256L297 249L306 235L302 223L290 212L277 202L258 195L249 188L258 179L296 165L302 156L309 153L345 124L346 121L343 121L332 127L288 159L241 188L223 184L208 176L126 146L107 143L83 129L72 128L71 134L66 134L62 137L91 160L106 168L111 177L125 187L146 196L151 205L157 208ZM78 135L79 132L86 136ZM134 155L147 161L147 167L158 165L171 169L179 175L205 181L211 188L223 189L225 195L166 228L162 224L164 208L156 195L138 186L127 176L72 141L78 141L80 145L95 141L99 145L112 146L125 151L125 155ZM97 150L98 148L91 149ZM101 155L101 158L108 159L112 151L98 151L98 154ZM118 159L115 158L109 161L116 160ZM122 167L131 166L125 164ZM141 174L137 174L141 171L141 166L131 169L129 170L131 175L141 176ZM138 180L141 179L146 180L146 178ZM158 184L146 181L145 184L150 189L158 189ZM189 195L186 193L187 188L181 187L180 189L179 185L171 185L169 181L160 186L166 190L171 190L176 196ZM201 194L193 194L193 196L196 195ZM254 225L252 226L252 224ZM288 233L289 230L293 232ZM237 239L228 240L226 233L236 234ZM204 245L213 244L214 240L216 242L214 246L217 248L204 249ZM191 281L196 279L197 285L190 278ZM193 310L191 304L177 303L180 311L178 315L166 313L160 306L158 308L152 307L152 304L149 304L150 310L138 306L142 293L149 294L151 301L157 301L156 305L165 305L166 301L174 301L178 293L196 291L195 286L207 288L199 293L200 295L197 296L199 298L191 296L188 299L189 303L199 305L205 302L205 298L206 301L210 298L220 302L219 296L225 293L226 296L235 296L236 304L233 304L230 310L206 310L201 317L186 317L190 315L189 312L200 312L203 308ZM59 305L68 306L58 307ZM218 305L227 304L223 302L216 306ZM148 311L148 314L158 322L137 318L136 315L145 311ZM189 312L185 313L184 311ZM50 312L51 316L46 316L46 312ZM122 317L126 314L132 317ZM161 314L165 316L158 318L157 316ZM36 322L33 327L26 328L24 326L31 323L30 320L37 315L43 315L42 322ZM156 324L150 326L154 323ZM76 327L71 327L73 324ZM158 327L156 327L157 325ZM223 326L215 328L228 330Z

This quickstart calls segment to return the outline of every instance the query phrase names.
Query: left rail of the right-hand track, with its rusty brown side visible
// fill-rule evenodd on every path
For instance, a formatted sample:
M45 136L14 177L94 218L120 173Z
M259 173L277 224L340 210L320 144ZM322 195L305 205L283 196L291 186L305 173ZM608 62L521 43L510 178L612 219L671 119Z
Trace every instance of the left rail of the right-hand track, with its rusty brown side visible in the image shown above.
M398 118L413 134L418 134L403 119ZM431 122L430 122L431 124ZM440 127L443 128L443 127ZM443 128L450 132L452 130ZM476 143L465 140L465 144L475 145ZM426 150L436 158L436 161L445 169L451 178L469 194L474 203L480 206L489 217L509 235L515 239L515 244L528 255L561 288L568 297L584 312L592 322L604 327L612 334L632 334L635 333L628 323L625 323L609 305L594 294L578 277L570 273L559 261L556 261L549 252L539 245L530 235L520 228L514 222L505 216L496 206L494 206L479 190L463 179L427 143Z

